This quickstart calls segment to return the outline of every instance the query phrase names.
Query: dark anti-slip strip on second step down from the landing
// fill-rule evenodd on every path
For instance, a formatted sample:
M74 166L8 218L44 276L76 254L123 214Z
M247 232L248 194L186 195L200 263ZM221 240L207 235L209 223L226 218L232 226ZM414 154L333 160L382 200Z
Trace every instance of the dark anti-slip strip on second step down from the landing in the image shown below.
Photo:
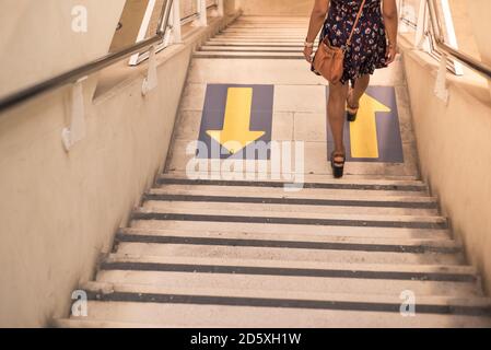
M144 195L145 200L195 201L195 202L234 202L261 205L293 205L293 206L337 206L337 207L373 207L373 208L409 208L436 209L435 201L377 201L348 199L309 199L309 198L269 198L269 197L232 197L232 196L192 196L192 195Z

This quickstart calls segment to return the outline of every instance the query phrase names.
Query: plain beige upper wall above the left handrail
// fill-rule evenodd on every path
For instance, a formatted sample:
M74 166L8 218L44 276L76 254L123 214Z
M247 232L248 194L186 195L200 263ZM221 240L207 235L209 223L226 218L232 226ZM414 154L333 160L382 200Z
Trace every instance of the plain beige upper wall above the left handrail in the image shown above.
M107 54L125 0L2 0L0 96ZM74 5L87 33L72 31Z

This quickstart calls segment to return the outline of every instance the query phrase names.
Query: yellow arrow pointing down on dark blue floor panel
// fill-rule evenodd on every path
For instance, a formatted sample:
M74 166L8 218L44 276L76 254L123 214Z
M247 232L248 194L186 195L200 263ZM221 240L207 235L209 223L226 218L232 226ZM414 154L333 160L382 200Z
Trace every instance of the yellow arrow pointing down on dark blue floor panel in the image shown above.
M223 130L208 130L207 133L231 154L239 152L266 133L250 131L252 109L253 88L230 88Z

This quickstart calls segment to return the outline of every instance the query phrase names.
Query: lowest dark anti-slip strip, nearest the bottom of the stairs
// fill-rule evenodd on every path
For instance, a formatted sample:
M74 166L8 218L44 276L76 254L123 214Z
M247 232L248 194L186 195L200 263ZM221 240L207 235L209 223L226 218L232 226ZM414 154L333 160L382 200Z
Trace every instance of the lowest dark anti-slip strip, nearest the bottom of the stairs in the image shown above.
M188 305L221 305L221 306L254 306L254 307L284 307L332 311L359 311L359 312L387 312L400 313L400 304L396 303L366 303L343 301L313 301L313 300L281 300L260 298L233 298L208 295L175 295L151 293L124 293L115 292L103 294L87 293L89 300L107 302L132 303L161 303L161 304L188 304ZM416 305L419 314L489 316L490 308L481 306L452 306L452 305Z

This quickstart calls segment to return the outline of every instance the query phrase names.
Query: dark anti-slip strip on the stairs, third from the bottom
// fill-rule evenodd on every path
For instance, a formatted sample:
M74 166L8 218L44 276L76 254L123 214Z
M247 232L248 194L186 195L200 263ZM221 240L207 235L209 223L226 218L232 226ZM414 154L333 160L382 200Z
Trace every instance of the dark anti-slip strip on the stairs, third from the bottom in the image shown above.
M299 242L299 241L268 241L268 240L231 240L210 237L177 237L157 235L132 235L119 233L117 241L128 243L153 244L183 244L207 246L234 246L259 248L290 248L290 249L319 249L319 250L351 250L351 252L379 252L379 253L459 253L457 247L433 247L424 245L385 245L385 244L351 244L338 242Z

